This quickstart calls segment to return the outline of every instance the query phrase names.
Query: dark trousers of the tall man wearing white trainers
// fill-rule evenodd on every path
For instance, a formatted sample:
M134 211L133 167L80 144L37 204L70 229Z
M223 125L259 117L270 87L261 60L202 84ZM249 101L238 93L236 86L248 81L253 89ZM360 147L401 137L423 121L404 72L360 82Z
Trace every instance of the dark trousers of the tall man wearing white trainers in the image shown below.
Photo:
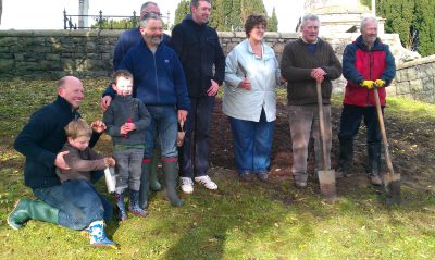
M214 96L190 98L190 111L184 127L186 135L179 157L183 177L204 176L209 171L210 123L214 101Z

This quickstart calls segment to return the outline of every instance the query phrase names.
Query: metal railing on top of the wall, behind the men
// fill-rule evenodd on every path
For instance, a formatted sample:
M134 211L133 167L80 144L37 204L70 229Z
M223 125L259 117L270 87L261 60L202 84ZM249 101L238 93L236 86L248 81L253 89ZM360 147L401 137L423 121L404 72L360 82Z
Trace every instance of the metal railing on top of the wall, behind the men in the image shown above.
M170 12L167 12L167 16L161 16L162 20L166 20L166 26L170 24ZM90 20L95 23L91 23L89 26L80 25L79 20L86 18ZM114 26L114 21L125 20L127 23L124 24L124 27L120 28L119 25ZM103 15L100 10L98 15L80 15L80 14L66 14L66 10L63 10L63 29L128 29L135 28L139 26L140 16L136 15L136 11L133 11L133 16L124 16L124 15ZM90 22L89 21L89 22Z

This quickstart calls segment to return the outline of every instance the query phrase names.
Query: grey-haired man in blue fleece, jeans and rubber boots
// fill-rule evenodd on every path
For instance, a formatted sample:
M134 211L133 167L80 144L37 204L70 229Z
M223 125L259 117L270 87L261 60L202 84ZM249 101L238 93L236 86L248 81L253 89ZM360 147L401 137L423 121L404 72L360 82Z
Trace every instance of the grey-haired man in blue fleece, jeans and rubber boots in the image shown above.
M151 115L145 137L142 174L151 171L153 136L161 146L166 196L173 206L182 206L175 191L177 183L178 151L176 147L177 122L184 122L190 109L182 63L175 52L161 44L163 23L160 16L148 14L140 21L144 40L124 57L120 69L132 72L135 83L133 96L140 99Z

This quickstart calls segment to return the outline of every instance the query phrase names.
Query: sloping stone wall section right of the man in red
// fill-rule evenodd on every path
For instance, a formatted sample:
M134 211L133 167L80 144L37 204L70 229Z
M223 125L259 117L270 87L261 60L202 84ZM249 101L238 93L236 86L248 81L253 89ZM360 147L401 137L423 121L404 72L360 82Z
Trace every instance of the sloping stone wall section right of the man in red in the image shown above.
M394 95L435 103L435 55L399 64Z

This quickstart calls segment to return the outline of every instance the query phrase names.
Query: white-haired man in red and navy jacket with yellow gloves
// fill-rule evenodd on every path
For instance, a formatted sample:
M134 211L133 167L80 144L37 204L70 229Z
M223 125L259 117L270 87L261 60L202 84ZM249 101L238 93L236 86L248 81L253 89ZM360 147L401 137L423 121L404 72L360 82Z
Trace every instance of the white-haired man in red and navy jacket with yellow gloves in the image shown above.
M343 75L347 85L338 133L340 154L337 176L351 174L353 138L364 117L369 153L368 176L373 185L382 185L381 131L373 88L377 88L384 109L385 87L391 83L395 74L394 57L388 46L377 37L377 20L364 17L361 21L361 35L346 47L343 54Z

